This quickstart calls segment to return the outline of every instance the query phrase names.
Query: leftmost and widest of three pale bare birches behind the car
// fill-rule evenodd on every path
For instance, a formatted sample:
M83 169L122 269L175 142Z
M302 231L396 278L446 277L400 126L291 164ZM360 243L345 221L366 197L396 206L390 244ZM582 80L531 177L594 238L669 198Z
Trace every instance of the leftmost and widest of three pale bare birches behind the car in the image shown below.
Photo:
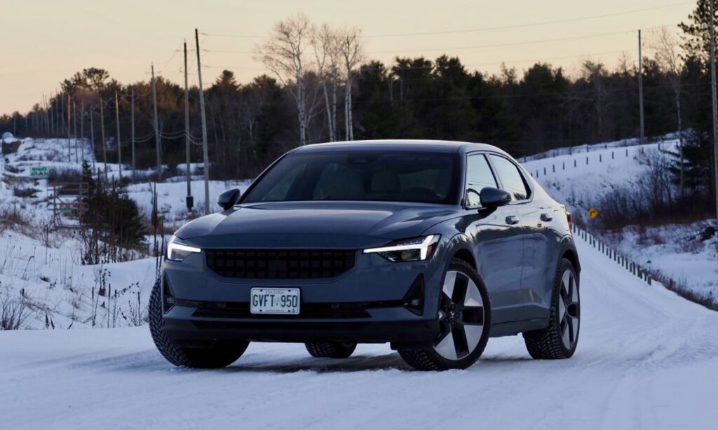
M316 105L316 92L311 97L307 88L307 75L316 66L307 52L311 37L309 19L297 14L277 22L269 40L257 47L257 59L279 79L297 102L299 145L307 144L307 129Z

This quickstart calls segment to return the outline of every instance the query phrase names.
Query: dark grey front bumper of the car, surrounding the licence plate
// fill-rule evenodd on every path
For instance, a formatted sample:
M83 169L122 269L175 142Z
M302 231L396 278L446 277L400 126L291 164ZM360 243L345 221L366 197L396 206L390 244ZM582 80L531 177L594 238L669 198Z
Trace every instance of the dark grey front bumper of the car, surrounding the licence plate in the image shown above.
M164 331L174 340L339 341L430 344L439 333L439 285L444 264L437 249L424 262L356 256L355 267L327 279L234 279L208 269L205 256L164 262ZM421 279L421 307L406 297ZM253 287L298 287L299 315L253 315ZM167 300L169 297L169 301ZM413 297L413 296L412 296Z

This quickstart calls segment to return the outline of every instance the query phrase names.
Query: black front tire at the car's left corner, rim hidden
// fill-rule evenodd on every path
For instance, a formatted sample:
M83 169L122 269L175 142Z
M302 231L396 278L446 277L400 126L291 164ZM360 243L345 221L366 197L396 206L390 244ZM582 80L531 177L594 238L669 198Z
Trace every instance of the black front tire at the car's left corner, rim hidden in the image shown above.
M215 343L209 348L183 348L177 346L163 330L162 285L157 282L149 297L149 333L154 345L164 358L177 366L200 369L223 368L234 363L249 345L247 341Z

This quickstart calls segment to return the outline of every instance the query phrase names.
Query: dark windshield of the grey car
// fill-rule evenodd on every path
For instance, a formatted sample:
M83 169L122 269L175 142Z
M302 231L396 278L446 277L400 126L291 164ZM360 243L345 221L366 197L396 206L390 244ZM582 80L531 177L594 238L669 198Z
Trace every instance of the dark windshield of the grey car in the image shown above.
M414 201L452 203L454 156L351 151L289 155L243 199L261 201Z

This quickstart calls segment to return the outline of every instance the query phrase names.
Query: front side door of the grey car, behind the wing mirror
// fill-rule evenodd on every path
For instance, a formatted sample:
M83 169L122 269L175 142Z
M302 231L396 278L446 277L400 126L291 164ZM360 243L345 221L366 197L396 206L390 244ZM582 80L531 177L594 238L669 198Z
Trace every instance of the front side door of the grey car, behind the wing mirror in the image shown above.
M513 206L486 209L481 206L482 188L499 188L484 153L467 155L465 202L467 235L472 239L477 272L491 300L492 324L517 320L521 314L521 267L523 231Z

